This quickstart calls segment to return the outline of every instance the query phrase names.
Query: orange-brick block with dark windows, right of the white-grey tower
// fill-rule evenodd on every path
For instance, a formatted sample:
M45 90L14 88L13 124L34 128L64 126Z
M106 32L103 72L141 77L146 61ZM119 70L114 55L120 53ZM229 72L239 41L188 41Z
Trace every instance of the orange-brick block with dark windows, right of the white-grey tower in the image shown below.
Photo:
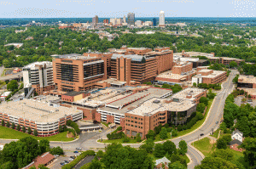
M107 79L107 57L65 54L53 58L54 82L59 91L80 92Z

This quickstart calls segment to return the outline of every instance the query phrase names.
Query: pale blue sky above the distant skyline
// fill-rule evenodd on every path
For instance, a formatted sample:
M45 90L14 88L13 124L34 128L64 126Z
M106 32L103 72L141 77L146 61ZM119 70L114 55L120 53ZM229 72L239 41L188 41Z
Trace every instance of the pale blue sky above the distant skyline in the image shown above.
M0 18L255 17L256 0L0 0Z

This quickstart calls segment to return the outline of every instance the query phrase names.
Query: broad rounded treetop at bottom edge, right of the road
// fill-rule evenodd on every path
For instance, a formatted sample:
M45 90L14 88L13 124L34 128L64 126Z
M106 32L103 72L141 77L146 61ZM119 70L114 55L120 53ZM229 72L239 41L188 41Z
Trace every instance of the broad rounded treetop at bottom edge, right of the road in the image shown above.
M195 169L219 168L219 169L238 169L238 167L230 161L218 157L206 157L201 161L201 165L195 166Z

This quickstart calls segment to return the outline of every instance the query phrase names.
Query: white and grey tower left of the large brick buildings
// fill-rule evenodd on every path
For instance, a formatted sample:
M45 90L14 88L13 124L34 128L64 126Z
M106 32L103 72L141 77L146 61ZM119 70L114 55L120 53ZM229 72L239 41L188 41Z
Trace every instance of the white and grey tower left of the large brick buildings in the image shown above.
M26 65L23 68L23 81L26 95L31 88L39 95L55 89L52 63L44 61Z

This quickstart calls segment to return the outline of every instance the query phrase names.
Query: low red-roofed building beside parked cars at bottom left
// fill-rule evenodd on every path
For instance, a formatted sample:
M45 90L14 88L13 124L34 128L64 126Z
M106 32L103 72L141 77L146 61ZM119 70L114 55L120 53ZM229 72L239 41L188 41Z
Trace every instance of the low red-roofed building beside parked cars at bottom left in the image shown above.
M55 156L49 154L49 152L46 152L43 155L38 156L36 159L32 161L32 163L23 167L22 169L29 169L32 166L35 166L38 169L39 165L48 166L54 160L55 160Z

